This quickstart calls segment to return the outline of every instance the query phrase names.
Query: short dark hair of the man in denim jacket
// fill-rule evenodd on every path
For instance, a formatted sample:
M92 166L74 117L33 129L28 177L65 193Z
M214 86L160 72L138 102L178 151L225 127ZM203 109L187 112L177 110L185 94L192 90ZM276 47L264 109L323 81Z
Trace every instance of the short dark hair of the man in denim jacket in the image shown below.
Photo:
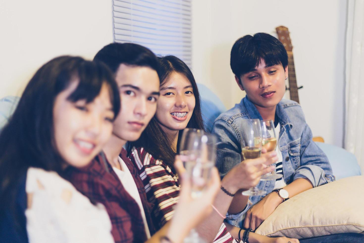
M282 64L285 68L288 65L283 44L269 34L257 33L254 36L243 36L234 43L230 53L230 67L240 80L241 75L252 71L261 59L268 66Z

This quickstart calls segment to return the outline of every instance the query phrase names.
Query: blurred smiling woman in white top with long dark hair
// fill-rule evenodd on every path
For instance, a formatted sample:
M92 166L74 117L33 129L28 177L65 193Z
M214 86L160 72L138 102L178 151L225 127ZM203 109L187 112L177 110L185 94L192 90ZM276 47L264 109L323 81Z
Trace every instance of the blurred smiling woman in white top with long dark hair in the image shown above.
M61 56L36 72L0 134L1 242L114 242L104 206L62 175L100 153L119 109L104 64Z

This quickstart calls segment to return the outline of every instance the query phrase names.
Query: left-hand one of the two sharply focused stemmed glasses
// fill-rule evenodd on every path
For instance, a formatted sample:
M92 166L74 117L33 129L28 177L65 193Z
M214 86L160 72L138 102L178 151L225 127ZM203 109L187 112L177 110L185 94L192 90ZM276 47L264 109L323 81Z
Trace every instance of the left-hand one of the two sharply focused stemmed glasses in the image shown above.
M259 158L262 151L262 129L259 119L244 119L240 126L242 159ZM251 187L244 196L265 195L266 191Z

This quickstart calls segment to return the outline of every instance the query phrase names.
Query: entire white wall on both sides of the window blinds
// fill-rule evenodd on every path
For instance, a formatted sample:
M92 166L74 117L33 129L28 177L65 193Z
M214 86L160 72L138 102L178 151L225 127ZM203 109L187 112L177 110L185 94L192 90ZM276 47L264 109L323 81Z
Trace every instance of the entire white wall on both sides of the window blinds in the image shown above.
M342 145L346 1L192 0L193 72L227 108L244 95L230 49L256 32L287 26L300 102L315 136ZM111 1L0 0L0 97L20 95L41 64L64 54L91 59L112 42Z

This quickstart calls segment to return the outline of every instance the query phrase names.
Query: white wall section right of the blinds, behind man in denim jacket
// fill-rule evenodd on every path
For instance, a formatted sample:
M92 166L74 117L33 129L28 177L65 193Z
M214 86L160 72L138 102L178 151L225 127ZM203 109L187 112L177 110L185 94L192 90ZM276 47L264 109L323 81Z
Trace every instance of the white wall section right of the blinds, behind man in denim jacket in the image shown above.
M314 136L342 146L347 1L192 1L192 67L227 108L245 95L230 69L230 50L243 35L289 28L300 103Z

